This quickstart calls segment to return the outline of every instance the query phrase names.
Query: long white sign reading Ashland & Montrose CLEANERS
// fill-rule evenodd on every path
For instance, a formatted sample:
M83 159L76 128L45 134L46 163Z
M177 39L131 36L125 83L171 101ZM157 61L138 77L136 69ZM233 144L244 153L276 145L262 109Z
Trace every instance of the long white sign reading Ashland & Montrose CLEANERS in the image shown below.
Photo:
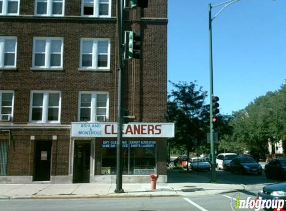
M123 137L174 137L173 123L130 123L123 125ZM117 123L71 123L72 137L117 137Z

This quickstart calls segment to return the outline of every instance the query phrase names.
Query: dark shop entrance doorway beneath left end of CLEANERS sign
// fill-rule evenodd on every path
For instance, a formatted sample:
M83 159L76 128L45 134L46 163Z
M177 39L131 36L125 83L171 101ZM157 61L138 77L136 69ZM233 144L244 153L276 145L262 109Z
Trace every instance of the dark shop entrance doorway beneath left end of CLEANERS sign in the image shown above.
M89 183L90 143L74 143L73 183Z

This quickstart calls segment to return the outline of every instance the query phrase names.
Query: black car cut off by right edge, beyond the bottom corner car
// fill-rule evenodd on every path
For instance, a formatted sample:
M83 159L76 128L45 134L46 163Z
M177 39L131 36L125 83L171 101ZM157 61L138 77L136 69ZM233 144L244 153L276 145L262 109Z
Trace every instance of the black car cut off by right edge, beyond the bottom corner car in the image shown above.
M271 160L264 167L267 178L279 178L286 180L286 158Z

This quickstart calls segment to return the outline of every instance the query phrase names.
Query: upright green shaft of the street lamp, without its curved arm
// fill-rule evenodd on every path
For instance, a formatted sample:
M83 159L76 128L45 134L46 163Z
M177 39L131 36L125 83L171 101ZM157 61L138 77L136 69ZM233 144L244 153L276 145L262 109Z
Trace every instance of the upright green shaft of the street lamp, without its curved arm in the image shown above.
M213 87L213 42L212 42L212 5L209 4L209 43L210 43L210 143L211 143L211 182L216 182L216 160L214 147L214 132L213 132L213 103L212 97L214 94Z

